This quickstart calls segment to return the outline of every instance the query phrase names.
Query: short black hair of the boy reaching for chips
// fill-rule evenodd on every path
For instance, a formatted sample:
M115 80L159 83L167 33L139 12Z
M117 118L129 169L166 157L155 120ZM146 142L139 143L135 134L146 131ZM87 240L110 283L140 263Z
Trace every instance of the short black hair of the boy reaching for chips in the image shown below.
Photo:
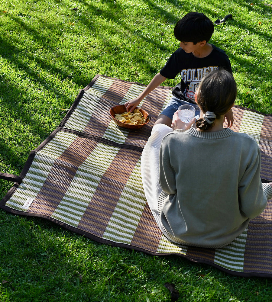
M181 42L208 41L212 37L214 25L203 13L192 11L177 22L174 35Z

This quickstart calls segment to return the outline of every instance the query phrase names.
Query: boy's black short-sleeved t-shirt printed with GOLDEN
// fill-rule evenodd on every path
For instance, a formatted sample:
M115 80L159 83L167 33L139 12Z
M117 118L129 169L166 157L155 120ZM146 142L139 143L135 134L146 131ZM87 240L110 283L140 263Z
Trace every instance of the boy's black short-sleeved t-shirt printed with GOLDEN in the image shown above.
M180 47L160 70L160 74L167 79L175 79L180 73L182 80L172 91L175 97L195 103L194 94L203 76L219 68L232 73L231 63L225 51L211 45L212 52L204 58L196 58L193 53L186 53Z

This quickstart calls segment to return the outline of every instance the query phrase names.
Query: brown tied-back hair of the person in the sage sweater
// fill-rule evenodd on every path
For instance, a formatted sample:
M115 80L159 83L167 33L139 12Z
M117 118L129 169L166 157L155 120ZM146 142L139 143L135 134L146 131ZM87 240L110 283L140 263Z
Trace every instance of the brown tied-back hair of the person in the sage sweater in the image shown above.
M233 76L224 69L217 69L207 74L197 89L197 104L203 113L212 111L216 118L227 113L237 96L237 87ZM213 126L204 118L196 121L196 127L201 131Z

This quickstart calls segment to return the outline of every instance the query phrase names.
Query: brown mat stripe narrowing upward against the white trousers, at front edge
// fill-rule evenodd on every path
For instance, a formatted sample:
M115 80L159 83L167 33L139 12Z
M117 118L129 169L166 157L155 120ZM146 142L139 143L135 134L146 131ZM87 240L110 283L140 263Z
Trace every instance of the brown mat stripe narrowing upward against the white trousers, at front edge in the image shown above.
M146 203L130 245L157 252L161 236L161 230Z

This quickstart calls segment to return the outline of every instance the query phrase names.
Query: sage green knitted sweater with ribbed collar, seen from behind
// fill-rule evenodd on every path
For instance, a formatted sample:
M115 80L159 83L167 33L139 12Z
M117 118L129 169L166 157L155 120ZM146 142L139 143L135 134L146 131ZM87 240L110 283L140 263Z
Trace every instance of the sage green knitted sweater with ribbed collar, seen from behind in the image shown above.
M272 189L261 183L254 139L227 128L167 134L160 148L158 210L167 237L220 248L262 213Z

